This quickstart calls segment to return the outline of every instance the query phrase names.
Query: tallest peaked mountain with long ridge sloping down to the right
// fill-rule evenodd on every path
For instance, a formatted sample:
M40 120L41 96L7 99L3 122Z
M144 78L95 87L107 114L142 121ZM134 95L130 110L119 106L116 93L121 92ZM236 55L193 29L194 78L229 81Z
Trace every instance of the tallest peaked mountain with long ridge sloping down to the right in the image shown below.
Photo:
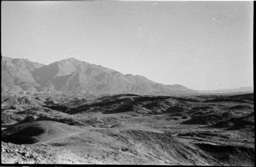
M65 93L75 94L168 94L189 91L181 85L163 85L143 76L123 75L113 69L89 64L74 58L34 69L36 82Z

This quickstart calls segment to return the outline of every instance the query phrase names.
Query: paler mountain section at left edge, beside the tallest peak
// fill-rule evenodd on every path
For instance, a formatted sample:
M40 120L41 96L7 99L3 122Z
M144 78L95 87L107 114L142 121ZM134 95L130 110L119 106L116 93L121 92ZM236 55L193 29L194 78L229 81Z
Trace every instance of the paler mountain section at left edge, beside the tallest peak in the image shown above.
M44 64L31 62L28 59L1 59L1 92L6 94L26 94L45 92L48 88L41 87L31 74L31 71Z

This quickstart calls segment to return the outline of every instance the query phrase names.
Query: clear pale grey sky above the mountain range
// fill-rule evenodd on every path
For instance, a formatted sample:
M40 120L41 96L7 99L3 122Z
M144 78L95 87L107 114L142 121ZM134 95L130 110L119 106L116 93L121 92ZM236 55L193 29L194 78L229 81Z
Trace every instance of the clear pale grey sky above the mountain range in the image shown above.
M2 56L196 90L253 86L253 2L1 2Z

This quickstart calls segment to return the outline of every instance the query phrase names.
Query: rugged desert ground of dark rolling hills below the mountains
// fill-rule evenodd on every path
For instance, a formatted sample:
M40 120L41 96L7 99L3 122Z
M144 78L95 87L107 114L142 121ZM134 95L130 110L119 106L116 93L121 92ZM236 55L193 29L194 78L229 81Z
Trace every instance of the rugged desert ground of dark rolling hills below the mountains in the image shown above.
M2 163L254 166L253 94L2 96Z

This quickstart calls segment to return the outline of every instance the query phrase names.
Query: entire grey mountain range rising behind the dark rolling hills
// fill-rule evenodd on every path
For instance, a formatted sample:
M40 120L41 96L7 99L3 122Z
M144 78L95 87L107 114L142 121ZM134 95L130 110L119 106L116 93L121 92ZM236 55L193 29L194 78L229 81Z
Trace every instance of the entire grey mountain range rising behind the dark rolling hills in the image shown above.
M156 83L139 75L123 75L113 69L75 58L43 65L27 59L2 57L1 85L5 94L55 91L95 95L118 93L170 95L193 91L182 85Z

